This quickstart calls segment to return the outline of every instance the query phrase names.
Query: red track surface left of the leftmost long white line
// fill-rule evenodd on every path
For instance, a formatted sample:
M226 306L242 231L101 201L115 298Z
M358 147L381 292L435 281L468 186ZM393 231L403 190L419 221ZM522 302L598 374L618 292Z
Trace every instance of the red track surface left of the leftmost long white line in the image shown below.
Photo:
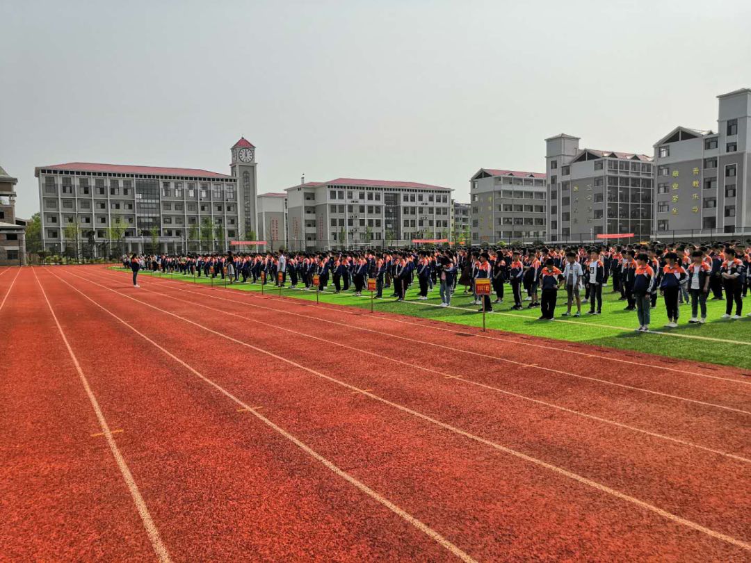
M20 272L17 273L17 272ZM0 545L9 560L154 551L31 269L0 277ZM2 295L2 293L0 293ZM44 343L44 345L40 345Z

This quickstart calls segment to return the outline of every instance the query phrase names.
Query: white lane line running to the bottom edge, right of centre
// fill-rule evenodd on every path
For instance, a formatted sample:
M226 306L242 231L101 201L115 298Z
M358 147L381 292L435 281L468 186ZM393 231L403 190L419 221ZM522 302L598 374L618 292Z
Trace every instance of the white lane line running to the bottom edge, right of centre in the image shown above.
M408 513L406 510L403 510L402 508L398 507L396 504L388 500L388 498L385 498L385 496L381 495L379 492L376 492L375 490L371 489L369 486L367 486L365 483L362 483L360 480L357 480L355 477L352 477L351 474L348 474L346 471L343 471L338 466L334 465L333 462L330 462L328 459L326 459L324 456L321 456L320 453L313 450L311 447L309 447L307 444L304 444L302 441L300 441L298 438L296 438L294 435L291 435L289 432L287 432L285 429L283 429L281 426L276 425L276 423L273 423L271 420L269 420L267 417L264 417L263 414L258 412L259 408L262 407L252 407L248 405L246 402L243 402L242 400L238 399L236 396L234 396L232 393L230 393L228 390L226 390L224 387L221 387L219 384L217 384L215 381L207 378L206 376L202 375L198 370L194 369L192 366L189 366L188 363L185 363L185 361L180 360L179 357L176 357L174 354L172 354L170 351L167 351L165 348L163 348L161 345L158 345L156 342L154 342L152 339L150 339L145 334L138 331L135 327L133 327L131 324L128 324L127 321L123 320L122 318L119 318L117 315L115 315L113 312L111 312L109 309L102 306L100 303L97 303L95 300L93 300L88 295L84 294L83 291L80 291L78 288L74 287L74 285L71 285L63 278L60 278L57 274L55 274L55 277L58 278L60 281L63 281L66 285L68 285L70 288L74 289L74 291L77 291L79 294L81 294L83 297L85 297L87 300L89 300L91 303L94 303L95 306L98 306L99 309L101 309L104 312L107 312L109 315L111 315L113 318L116 318L117 321L121 322L125 325L125 327L128 327L130 330L132 330L134 333L136 333L138 336L141 336L143 339L145 339L150 344L154 345L155 348L158 348L160 351L164 352L164 354L167 354L168 357L175 360L177 363L179 363L181 366L185 367L185 369L188 369L189 372L192 372L193 375L196 375L198 378L201 378L205 383L209 384L210 386L214 387L216 390L219 391L219 393L222 393L224 396L228 397L228 399L231 399L236 405L240 406L240 408L243 409L243 411L248 411L252 413L258 420L261 420L264 424L269 426L271 429L275 430L276 432L279 432L282 436L287 438L289 441L291 441L293 444L295 444L297 447L300 448L300 450L303 450L303 452L307 453L309 456L311 456L313 459L315 459L318 462L321 462L326 468L330 469L330 471L333 471L336 475L339 477L342 477L342 479L346 480L351 485L355 486L357 489L359 489L361 492L364 492L366 495L368 495L370 498L378 502L379 504L382 504L383 506L387 507L391 512L397 514L397 516L400 516L400 518L404 519L409 524L413 525L415 528L417 528L419 531L426 534L431 539L435 540L437 543L439 543L442 547L445 549L448 549L449 552L451 552L453 555L460 558L462 561L467 561L468 563L475 563L475 559L473 559L470 555L468 555L466 552L464 552L462 549L454 545L454 543L451 543L451 541L447 540L445 537L443 537L439 532L435 531L433 528L430 528L430 526L424 524L424 522L421 522L421 520L415 518L415 516L412 516L412 514ZM114 291L114 290L110 290ZM114 293L119 294L118 291L114 291ZM128 297L123 294L122 297ZM143 303L138 300L135 300L138 303ZM261 351L260 348L254 348L258 351ZM264 352L265 353L265 352Z

